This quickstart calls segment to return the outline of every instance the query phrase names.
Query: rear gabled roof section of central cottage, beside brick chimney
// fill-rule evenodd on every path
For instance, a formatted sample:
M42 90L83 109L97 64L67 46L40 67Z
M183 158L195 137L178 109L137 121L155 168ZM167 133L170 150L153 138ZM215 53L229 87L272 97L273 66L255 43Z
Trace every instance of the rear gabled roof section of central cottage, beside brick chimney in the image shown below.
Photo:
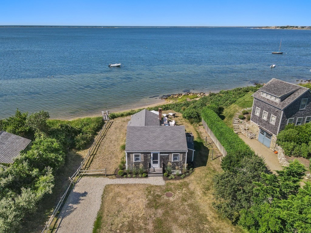
M148 111L146 108L132 115L128 126L160 126L159 115Z

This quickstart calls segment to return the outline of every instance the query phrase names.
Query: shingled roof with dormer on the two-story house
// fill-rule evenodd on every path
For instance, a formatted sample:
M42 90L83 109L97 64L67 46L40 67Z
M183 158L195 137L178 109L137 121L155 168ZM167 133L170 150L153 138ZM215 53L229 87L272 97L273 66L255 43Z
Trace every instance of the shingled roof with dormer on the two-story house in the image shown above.
M283 90L283 86L284 86L285 91ZM283 101L278 103L278 102L275 102L273 100L263 97L261 95L261 91L268 92L269 94L276 95L278 97L286 95L293 91L294 92L290 94L287 98L285 98ZM264 85L262 88L256 91L253 94L253 97L283 110L285 107L293 103L297 98L299 98L302 94L304 94L307 91L310 91L310 90L308 88L301 87L295 84L290 84L282 80L272 79L269 82L267 82L266 85Z

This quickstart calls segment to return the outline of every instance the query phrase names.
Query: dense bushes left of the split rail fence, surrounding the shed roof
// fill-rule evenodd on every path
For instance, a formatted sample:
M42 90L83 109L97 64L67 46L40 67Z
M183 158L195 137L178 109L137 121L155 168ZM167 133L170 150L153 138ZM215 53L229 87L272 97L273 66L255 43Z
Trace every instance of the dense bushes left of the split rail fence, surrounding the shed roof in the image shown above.
M102 125L101 117L75 121L48 121L48 112L16 114L0 120L0 130L32 139L7 168L0 168L0 232L17 232L24 218L34 213L45 194L52 193L54 175L66 153L83 148Z

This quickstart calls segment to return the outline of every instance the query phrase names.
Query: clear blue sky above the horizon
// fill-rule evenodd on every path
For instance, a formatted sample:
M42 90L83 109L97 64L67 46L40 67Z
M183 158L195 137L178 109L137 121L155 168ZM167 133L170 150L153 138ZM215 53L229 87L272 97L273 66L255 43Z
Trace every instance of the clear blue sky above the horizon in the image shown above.
M311 1L1 0L0 25L311 25Z

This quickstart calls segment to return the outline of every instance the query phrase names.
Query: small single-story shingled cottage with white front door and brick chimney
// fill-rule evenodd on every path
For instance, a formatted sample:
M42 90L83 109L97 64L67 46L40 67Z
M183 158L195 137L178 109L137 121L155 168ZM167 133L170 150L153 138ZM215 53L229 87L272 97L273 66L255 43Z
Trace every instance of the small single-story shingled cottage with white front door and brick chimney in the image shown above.
M126 168L143 165L151 175L163 175L168 162L182 169L193 161L193 135L184 126L164 126L159 114L144 109L132 115L128 122L125 157Z

